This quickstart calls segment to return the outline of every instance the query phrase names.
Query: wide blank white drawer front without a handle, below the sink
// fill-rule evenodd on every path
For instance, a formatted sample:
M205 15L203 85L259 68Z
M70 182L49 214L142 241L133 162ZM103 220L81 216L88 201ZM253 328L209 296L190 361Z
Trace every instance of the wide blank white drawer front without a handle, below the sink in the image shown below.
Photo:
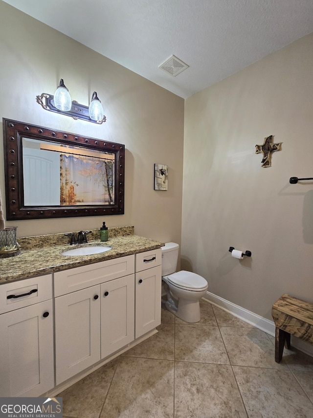
M134 255L101 261L54 273L54 295L76 292L134 273Z

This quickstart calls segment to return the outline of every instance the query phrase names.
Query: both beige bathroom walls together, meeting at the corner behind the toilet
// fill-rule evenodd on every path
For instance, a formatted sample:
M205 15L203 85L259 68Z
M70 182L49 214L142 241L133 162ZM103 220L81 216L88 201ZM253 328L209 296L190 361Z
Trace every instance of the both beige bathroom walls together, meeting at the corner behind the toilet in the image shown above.
M0 117L126 147L125 215L7 226L28 236L104 220L178 243L182 226L182 268L203 275L213 294L268 319L283 293L313 302L313 184L289 184L313 176L313 34L188 98L183 125L182 98L1 1L0 15ZM80 103L96 90L107 122L43 110L36 95L53 94L61 77ZM265 169L255 144L271 134L282 150ZM167 192L153 190L154 163L169 165ZM233 259L229 246L252 257Z

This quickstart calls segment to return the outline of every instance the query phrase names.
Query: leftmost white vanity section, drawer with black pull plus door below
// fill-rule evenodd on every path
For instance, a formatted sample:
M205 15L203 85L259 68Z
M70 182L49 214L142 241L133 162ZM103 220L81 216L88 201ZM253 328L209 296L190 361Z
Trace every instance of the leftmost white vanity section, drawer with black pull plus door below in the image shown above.
M51 274L0 285L0 397L54 387Z

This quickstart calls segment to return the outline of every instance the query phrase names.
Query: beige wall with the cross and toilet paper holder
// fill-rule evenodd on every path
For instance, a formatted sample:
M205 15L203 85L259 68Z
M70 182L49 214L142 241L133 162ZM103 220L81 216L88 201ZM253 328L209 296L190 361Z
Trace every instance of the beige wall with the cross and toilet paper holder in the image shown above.
M268 319L283 293L313 302L313 182L289 183L313 177L312 75L313 34L185 101L182 267Z

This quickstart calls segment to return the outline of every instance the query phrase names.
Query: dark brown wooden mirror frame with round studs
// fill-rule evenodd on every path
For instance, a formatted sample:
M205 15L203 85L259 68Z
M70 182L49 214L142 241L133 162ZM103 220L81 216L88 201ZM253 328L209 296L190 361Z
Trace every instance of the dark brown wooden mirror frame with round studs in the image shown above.
M114 154L114 201L109 204L25 206L22 138L30 138ZM3 118L6 218L67 218L124 214L125 146Z

